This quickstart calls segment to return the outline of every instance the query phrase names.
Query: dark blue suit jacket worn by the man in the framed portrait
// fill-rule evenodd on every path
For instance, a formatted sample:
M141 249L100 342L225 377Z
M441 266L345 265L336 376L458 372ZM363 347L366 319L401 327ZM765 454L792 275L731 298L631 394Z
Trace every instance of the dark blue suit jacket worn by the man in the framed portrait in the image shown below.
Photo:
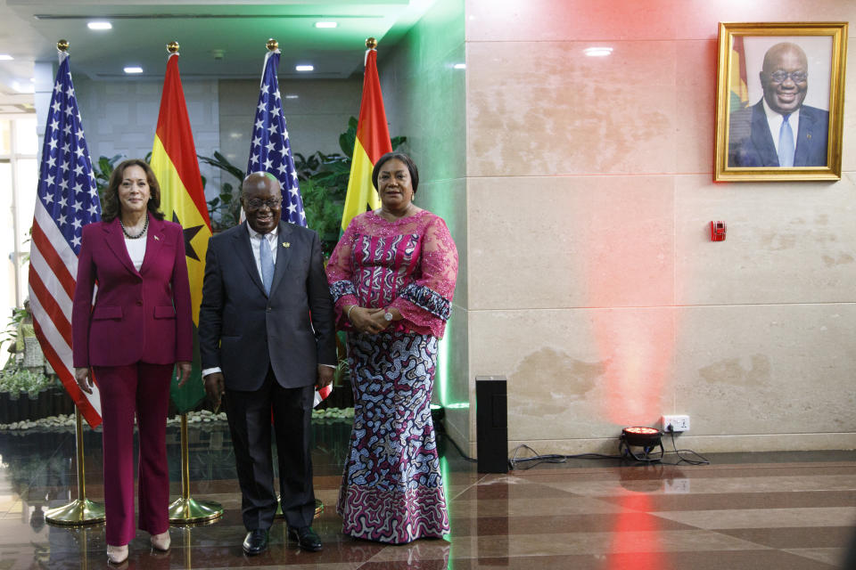
M800 107L800 126L794 142L794 167L827 166L829 113L816 107ZM778 167L776 145L770 134L763 102L730 115L729 167Z

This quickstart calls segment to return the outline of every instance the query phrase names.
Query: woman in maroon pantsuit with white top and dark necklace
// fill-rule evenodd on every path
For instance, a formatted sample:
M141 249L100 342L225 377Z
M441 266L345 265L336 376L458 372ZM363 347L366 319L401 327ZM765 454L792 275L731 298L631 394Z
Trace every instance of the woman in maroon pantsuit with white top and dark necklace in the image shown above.
M122 162L101 222L83 228L71 314L75 376L103 419L107 558L128 558L134 525L134 417L139 429L139 527L169 550L166 423L169 382L190 375L190 287L182 228L163 220L161 188L142 160ZM95 302L93 294L95 293Z

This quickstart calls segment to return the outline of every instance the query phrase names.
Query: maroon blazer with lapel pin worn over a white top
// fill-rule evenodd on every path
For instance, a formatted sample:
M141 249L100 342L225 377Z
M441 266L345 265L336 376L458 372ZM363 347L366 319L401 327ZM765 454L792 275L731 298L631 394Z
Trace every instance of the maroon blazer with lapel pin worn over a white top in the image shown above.
M150 216L145 240L136 271L119 218L84 226L71 312L75 368L193 360L184 232Z

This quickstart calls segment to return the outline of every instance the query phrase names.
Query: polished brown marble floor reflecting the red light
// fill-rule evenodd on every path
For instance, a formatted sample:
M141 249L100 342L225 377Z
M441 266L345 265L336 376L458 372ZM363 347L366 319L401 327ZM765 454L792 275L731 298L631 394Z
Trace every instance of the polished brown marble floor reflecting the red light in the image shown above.
M189 430L191 494L218 501L224 516L173 527L166 554L153 553L139 533L122 567L819 570L844 567L854 537L856 452L716 454L704 466L572 460L483 475L441 444L452 528L446 540L356 541L342 535L334 509L350 428L318 422L314 432L323 551L297 549L277 522L268 552L243 556L231 442L225 423L214 422ZM100 435L86 430L84 439L86 494L98 500ZM71 431L0 433L0 570L111 567L103 525L45 525L45 509L77 496L74 455ZM169 456L177 495L173 427Z

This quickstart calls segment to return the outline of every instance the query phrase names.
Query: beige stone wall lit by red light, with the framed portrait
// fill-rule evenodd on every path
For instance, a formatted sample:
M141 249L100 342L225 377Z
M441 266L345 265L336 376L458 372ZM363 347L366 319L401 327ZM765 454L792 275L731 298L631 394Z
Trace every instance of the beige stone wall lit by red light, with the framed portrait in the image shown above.
M856 4L465 1L455 373L470 402L507 376L510 447L614 452L663 413L702 452L856 445L852 97L840 182L712 183L718 23L782 20ZM476 452L474 406L468 434Z

